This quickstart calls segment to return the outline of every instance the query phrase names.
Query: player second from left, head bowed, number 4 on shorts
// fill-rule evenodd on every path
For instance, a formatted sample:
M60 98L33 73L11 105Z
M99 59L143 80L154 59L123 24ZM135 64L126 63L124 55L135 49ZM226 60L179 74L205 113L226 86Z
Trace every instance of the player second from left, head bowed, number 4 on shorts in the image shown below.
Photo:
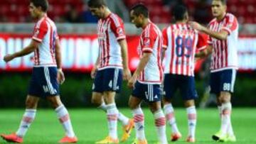
M91 76L92 103L107 112L109 135L97 143L118 143L117 119L122 122L124 133L122 140L129 138L134 121L117 110L114 96L121 89L122 79L129 79L131 72L128 67L127 41L124 23L119 16L108 9L105 0L90 0L88 6L92 15L99 18L98 42L100 54Z

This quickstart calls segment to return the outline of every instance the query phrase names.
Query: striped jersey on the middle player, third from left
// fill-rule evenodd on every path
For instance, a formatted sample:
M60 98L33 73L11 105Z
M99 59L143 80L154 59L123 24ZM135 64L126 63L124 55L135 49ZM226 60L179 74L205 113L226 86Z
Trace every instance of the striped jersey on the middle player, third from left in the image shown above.
M163 37L154 23L149 23L140 35L138 53L142 57L144 52L151 52L149 62L139 74L138 81L145 84L161 84L163 70L161 66L161 48Z

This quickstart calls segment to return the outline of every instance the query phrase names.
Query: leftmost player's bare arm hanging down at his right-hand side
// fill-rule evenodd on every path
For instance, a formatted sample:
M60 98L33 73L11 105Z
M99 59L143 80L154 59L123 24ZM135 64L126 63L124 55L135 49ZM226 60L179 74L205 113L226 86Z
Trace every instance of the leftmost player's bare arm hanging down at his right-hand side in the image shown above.
M55 59L56 59L57 68L58 68L57 81L59 84L63 84L63 82L65 81L65 76L62 71L60 40L58 38L55 41Z

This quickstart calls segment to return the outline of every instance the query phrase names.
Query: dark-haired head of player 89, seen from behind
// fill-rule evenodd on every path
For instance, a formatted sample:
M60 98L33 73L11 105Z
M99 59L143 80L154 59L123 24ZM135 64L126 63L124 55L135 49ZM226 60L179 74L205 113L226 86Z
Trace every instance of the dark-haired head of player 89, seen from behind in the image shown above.
M174 7L173 10L174 19L175 21L188 21L188 10L186 9L186 6L178 5Z

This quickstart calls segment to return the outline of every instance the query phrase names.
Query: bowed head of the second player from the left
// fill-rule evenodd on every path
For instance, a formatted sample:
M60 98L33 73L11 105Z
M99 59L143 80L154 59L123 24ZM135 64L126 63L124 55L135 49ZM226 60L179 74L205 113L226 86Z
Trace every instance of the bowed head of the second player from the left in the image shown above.
M104 18L105 9L107 7L105 0L90 0L87 4L93 16L96 16L97 18Z

